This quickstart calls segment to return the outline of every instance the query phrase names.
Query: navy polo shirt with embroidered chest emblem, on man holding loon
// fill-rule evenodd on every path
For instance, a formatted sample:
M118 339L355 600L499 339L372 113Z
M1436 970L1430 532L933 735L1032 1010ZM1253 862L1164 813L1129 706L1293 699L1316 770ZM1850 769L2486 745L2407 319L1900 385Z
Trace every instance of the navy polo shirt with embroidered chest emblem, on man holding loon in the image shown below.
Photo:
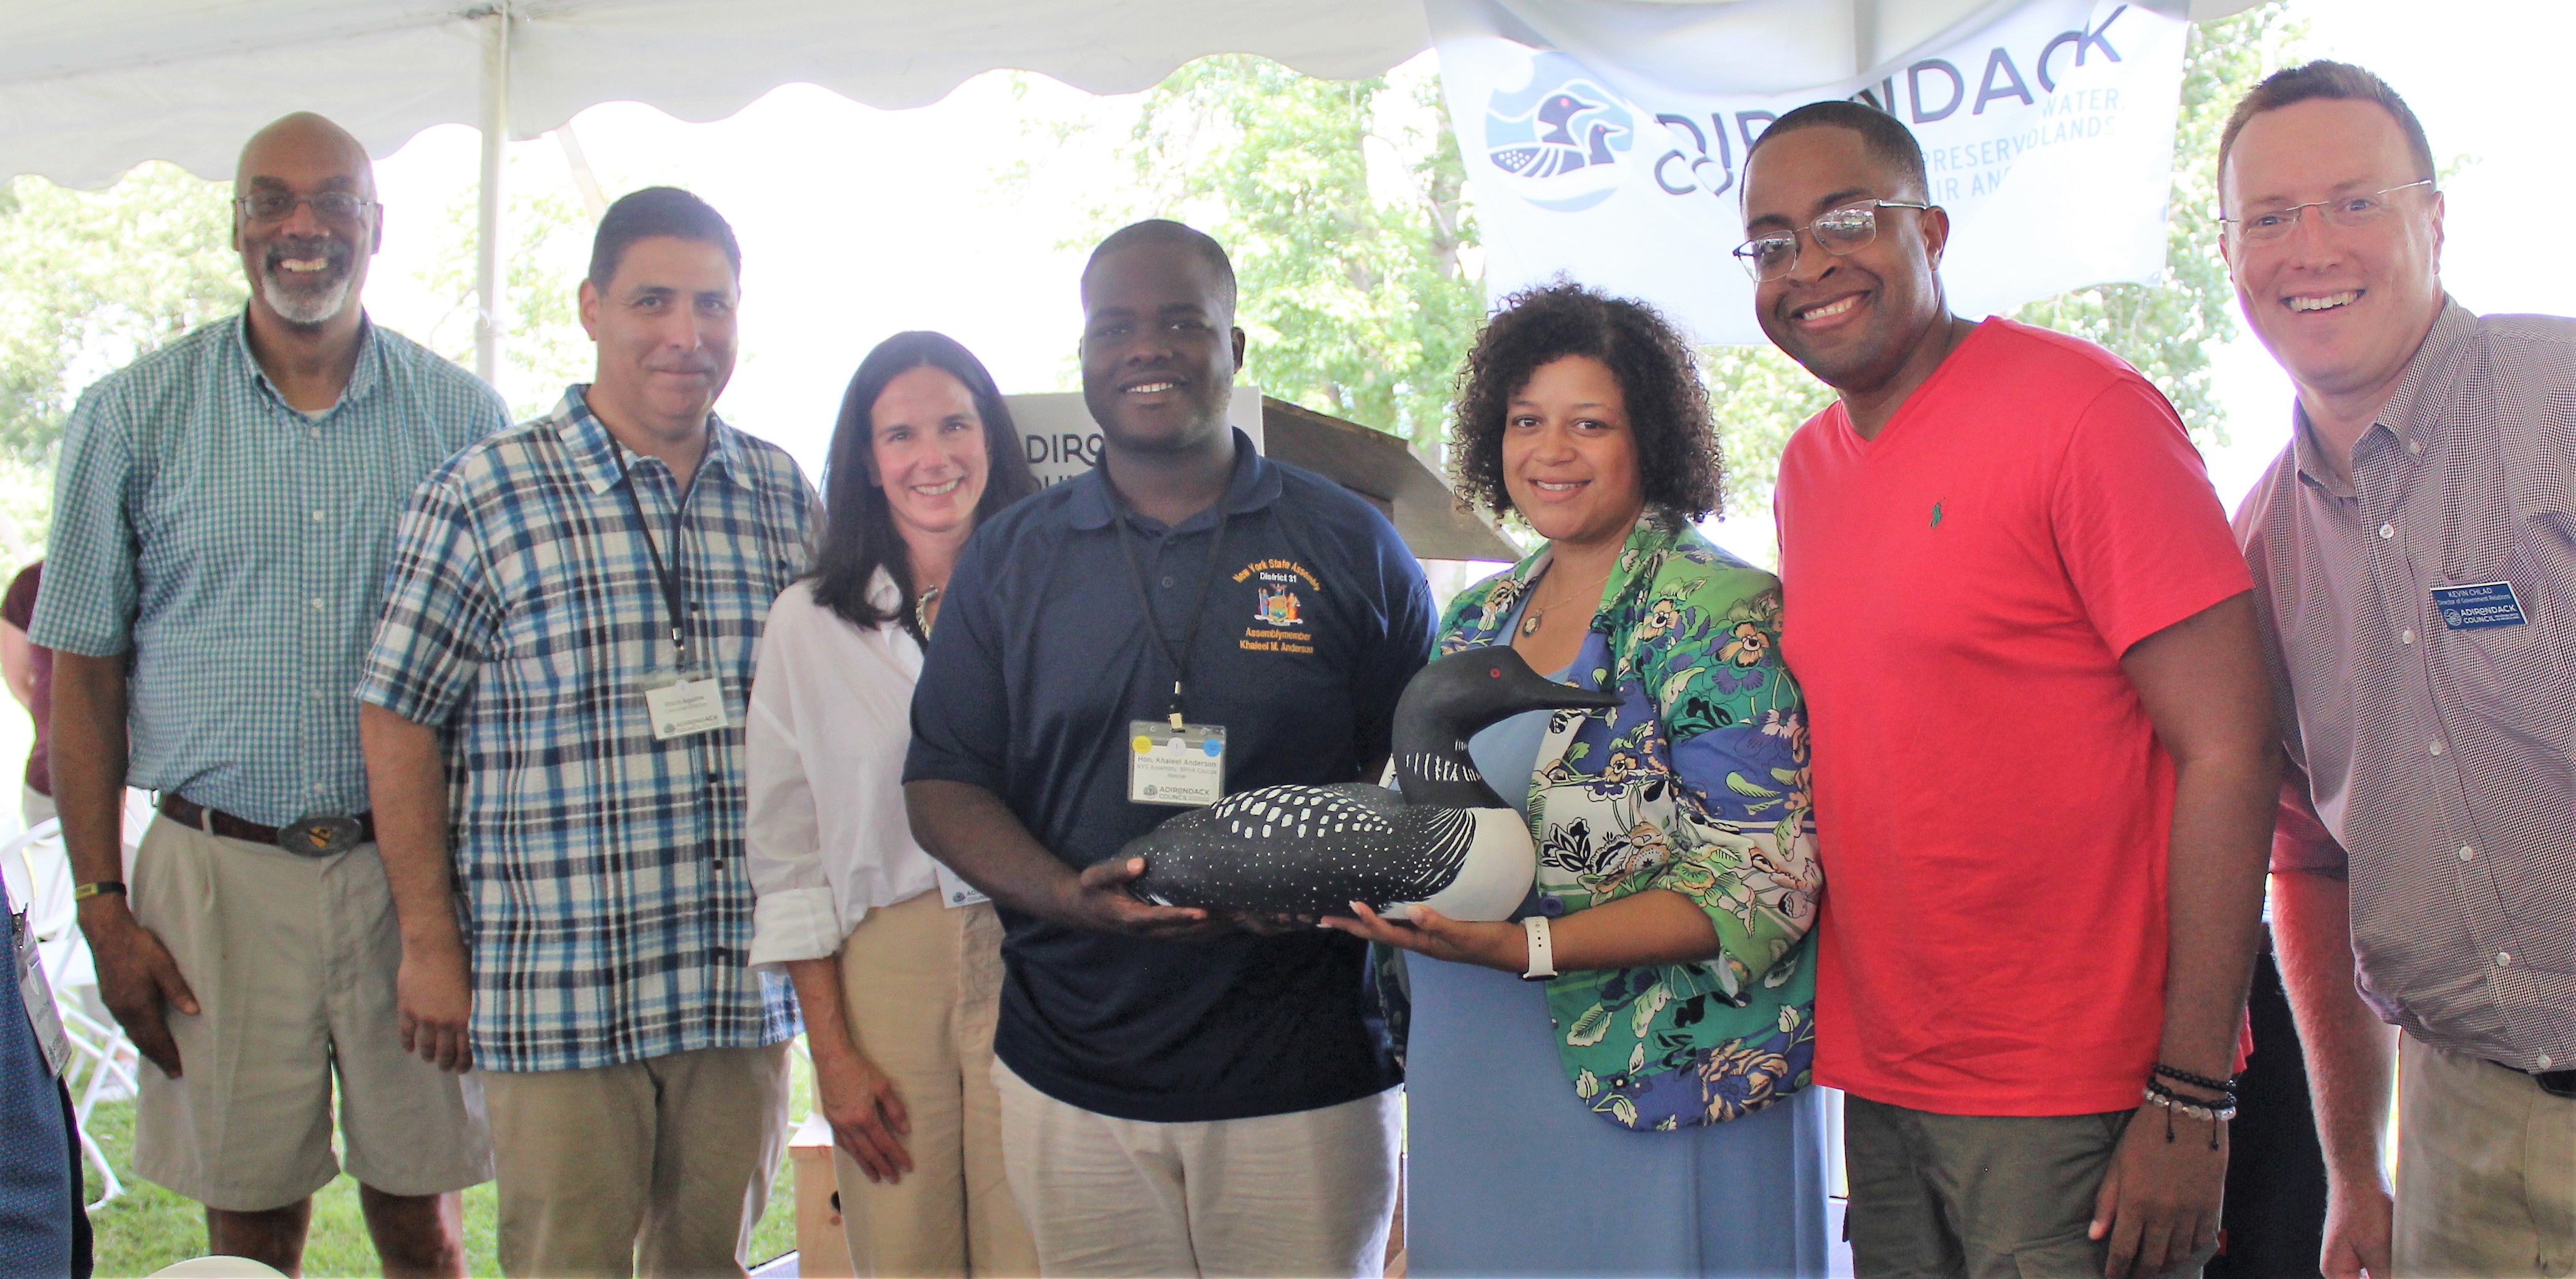
M1257 456L1242 433L1234 449L1226 495L1177 526L1115 511L1095 467L976 529L912 699L904 781L989 789L1069 866L1115 856L1180 812L1128 802L1128 725L1162 719L1172 691L1149 624L1188 655L1185 714L1226 727L1229 794L1373 781L1396 696L1430 655L1422 567L1332 480ZM1002 923L994 1052L1056 1101L1206 1122L1399 1083L1358 939L1149 941L1015 910Z

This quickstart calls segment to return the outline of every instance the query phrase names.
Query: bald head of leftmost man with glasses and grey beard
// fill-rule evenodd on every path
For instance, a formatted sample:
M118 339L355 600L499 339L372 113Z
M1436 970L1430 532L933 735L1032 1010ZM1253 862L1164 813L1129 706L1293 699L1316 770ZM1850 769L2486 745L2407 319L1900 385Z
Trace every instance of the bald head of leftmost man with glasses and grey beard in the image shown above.
M366 260L384 229L366 147L348 129L296 111L250 134L232 196L232 240L250 273L252 312L355 340Z

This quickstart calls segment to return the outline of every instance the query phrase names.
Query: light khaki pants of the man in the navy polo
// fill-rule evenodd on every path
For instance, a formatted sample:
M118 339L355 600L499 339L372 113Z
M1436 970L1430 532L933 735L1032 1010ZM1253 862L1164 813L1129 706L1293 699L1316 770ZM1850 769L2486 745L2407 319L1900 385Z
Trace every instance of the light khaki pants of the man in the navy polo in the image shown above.
M1010 1189L1048 1279L1386 1269L1401 1088L1311 1111L1146 1124L1066 1106L999 1062L992 1075Z

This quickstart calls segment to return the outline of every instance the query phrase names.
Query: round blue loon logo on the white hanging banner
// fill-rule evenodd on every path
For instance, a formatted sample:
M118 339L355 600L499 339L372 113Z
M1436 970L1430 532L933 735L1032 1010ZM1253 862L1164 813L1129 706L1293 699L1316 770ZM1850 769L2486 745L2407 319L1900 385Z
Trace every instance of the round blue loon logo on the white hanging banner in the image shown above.
M1528 83L1486 98L1484 155L1540 209L1571 214L1610 199L1633 144L1636 116L1566 54L1530 57Z

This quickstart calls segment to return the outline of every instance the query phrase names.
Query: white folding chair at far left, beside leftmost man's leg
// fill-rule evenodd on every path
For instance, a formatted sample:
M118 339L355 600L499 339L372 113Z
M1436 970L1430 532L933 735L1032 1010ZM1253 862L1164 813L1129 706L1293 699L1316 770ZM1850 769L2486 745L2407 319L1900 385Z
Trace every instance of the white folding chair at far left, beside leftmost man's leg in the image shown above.
M46 982L54 985L54 1013L62 1016L62 1031L72 1042L72 1065L64 1070L64 1086L72 1091L80 1150L98 1168L100 1196L90 1204L95 1212L126 1194L126 1184L108 1166L106 1150L90 1137L90 1111L100 1101L134 1096L134 1042L126 1039L126 1029L116 1019L90 1013L88 993L98 990L98 964L90 959L90 944L80 936L72 903L72 864L62 851L59 823L36 823L23 835L0 846L0 869L10 877L10 895L26 903L28 931L36 933L36 957L44 959Z

